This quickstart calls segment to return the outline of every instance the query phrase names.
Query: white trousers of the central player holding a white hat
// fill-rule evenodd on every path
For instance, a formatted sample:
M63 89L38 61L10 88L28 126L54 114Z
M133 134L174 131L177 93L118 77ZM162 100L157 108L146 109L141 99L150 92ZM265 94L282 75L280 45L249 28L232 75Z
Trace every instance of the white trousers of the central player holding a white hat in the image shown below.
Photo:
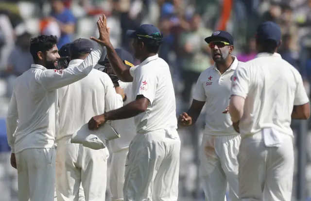
M177 201L180 139L176 130L170 132L134 137L125 165L124 201Z

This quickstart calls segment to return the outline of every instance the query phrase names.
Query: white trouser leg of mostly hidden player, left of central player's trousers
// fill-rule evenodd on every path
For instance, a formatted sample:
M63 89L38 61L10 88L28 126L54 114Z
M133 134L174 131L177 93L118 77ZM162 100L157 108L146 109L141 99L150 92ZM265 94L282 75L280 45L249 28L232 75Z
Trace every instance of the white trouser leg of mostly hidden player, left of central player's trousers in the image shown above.
M123 201L123 186L125 163L128 154L128 148L114 152L111 155L111 168L110 168L110 191L112 201Z

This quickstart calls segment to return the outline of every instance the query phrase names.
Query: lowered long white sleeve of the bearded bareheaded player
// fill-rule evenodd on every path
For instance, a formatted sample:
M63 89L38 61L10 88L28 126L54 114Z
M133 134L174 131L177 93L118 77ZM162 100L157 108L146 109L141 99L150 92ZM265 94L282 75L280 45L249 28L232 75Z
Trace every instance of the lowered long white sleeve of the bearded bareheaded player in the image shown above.
M13 94L11 96L11 101L9 105L9 110L6 118L6 135L8 138L8 144L11 147L12 153L15 153L14 144L15 144L15 131L17 129L17 120L18 120L18 112L17 112L17 102L15 96L15 90L13 90Z

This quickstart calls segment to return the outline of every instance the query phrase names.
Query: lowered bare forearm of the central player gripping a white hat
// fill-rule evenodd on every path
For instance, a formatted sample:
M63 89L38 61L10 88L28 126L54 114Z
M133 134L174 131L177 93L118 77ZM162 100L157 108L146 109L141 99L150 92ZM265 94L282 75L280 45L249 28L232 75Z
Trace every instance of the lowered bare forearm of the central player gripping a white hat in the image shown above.
M142 107L141 103L136 100L123 106L122 108L105 112L104 116L106 121L128 119L137 116L145 110L146 109Z

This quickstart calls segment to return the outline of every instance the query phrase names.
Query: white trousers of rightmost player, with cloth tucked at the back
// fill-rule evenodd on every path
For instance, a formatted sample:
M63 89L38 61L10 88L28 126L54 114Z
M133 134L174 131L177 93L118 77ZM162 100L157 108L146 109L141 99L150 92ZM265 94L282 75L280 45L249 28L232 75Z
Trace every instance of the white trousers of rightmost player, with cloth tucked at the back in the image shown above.
M267 147L261 132L241 140L241 201L291 201L294 175L293 137L282 135L279 147Z

